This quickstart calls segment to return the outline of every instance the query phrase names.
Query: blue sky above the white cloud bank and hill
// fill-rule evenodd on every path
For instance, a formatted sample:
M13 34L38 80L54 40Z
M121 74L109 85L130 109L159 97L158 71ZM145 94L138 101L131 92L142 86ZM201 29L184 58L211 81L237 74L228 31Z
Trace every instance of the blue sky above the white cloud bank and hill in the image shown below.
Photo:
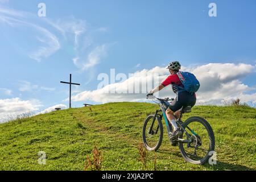
M40 2L46 17L38 17ZM211 2L217 17L208 15ZM111 68L128 75L171 60L184 67L251 65L238 80L255 88L255 17L254 0L0 0L0 99L36 100L40 110L68 105L68 85L60 81L69 73L81 83L73 87L79 93L96 90L98 74ZM96 103L73 106L83 102Z

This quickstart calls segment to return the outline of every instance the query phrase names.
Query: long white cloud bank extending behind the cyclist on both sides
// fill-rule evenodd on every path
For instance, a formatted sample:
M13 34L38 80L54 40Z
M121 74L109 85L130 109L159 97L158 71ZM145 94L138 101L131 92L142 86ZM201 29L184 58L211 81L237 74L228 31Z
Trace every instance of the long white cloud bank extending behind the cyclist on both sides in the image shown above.
M247 94L247 91L254 90L243 84L240 78L253 72L255 66L249 64L207 64L195 68L184 68L183 71L189 71L196 75L201 83L201 88L197 93L197 104L222 104L224 100L241 98L243 102L252 101L256 103L255 94ZM152 74L159 73L156 80L153 80ZM104 88L84 91L73 96L73 101L93 101L93 102L119 102L119 101L143 101L145 94L108 94L106 90L115 90L118 93L125 92L130 85L141 82L145 85L148 81L162 82L168 76L165 68L155 67L152 69L143 69L136 72L136 76L118 82L109 84ZM154 86L154 84L152 84ZM155 83L156 85L156 83ZM147 89L147 92L149 90ZM170 86L160 91L160 97L175 97Z

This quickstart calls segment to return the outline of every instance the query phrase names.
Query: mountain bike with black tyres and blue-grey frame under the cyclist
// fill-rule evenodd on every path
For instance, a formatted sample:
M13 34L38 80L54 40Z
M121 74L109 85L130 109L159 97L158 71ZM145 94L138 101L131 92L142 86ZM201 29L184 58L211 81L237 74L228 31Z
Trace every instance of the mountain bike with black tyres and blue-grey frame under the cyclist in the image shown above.
M174 98L147 97L160 106L155 114L148 115L143 126L143 142L148 151L157 151L163 140L162 119L166 123L168 136L172 134L172 126L166 117L166 110ZM215 138L210 124L201 117L191 117L185 122L181 121L184 113L190 113L191 106L183 106L180 117L177 118L177 126L182 134L176 139L183 158L192 164L204 164L213 155ZM174 142L174 141L172 141Z

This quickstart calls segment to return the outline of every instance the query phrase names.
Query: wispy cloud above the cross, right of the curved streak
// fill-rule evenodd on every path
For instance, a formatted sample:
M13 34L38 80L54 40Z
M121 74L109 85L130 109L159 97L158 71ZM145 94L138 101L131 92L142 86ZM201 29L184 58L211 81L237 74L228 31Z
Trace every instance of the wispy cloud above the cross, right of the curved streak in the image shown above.
M99 64L102 58L106 56L108 48L113 44L94 45L93 34L106 32L108 28L90 28L85 20L76 19L73 16L55 22L46 19L46 22L59 30L65 39L72 40L75 51L72 61L79 68L79 72L92 69Z

